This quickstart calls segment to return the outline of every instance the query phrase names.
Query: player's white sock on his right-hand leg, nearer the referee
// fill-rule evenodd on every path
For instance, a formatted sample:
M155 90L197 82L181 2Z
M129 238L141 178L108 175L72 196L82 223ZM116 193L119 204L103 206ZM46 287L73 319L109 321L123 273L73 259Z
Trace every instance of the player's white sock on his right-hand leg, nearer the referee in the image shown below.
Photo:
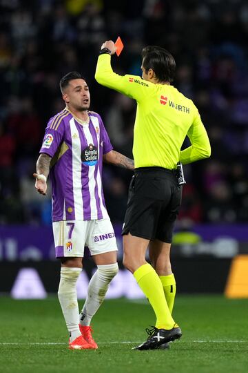
M87 298L81 314L79 314L80 324L89 326L92 317L96 314L107 293L110 281L118 273L118 264L98 265L97 270L92 276L88 289Z

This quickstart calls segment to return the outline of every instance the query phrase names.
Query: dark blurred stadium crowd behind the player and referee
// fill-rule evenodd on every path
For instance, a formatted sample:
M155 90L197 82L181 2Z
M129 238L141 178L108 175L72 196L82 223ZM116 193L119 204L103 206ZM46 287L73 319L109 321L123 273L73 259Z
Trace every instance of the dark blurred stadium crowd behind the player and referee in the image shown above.
M194 100L209 134L211 158L185 166L178 224L248 222L247 1L0 0L0 15L1 224L50 224L50 193L38 195L32 173L70 70L87 80L114 149L132 157L136 103L94 81L101 44L118 35L120 74L141 75L146 45L172 52L174 86ZM122 222L132 174L104 171L107 209Z

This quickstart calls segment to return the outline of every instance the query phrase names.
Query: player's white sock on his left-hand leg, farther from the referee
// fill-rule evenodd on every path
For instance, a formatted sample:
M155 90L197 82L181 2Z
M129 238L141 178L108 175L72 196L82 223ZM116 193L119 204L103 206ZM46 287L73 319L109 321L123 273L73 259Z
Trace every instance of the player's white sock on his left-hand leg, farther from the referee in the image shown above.
M79 330L79 305L76 296L76 281L81 270L81 268L61 267L58 296L71 342L81 336Z

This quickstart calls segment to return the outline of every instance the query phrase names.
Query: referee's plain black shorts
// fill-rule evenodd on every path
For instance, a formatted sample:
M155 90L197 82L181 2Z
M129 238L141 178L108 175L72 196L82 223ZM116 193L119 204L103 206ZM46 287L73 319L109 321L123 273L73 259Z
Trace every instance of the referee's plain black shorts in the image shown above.
M142 167L130 182L122 235L172 242L174 222L182 200L175 171Z

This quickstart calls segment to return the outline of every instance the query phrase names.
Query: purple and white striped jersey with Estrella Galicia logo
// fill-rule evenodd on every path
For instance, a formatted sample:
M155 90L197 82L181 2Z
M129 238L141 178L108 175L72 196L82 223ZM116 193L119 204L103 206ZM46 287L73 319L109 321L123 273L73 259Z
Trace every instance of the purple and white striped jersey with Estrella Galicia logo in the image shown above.
M103 196L103 154L113 147L99 114L82 124L65 108L45 129L40 153L52 157L52 221L108 218Z

